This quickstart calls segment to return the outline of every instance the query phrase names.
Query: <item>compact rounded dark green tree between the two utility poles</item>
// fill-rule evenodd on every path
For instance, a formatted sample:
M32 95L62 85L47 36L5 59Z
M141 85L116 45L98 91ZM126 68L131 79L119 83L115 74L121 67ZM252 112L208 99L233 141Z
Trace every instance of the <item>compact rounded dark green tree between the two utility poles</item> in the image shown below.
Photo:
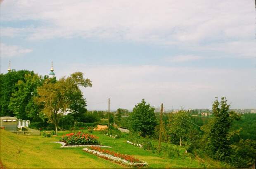
M135 105L133 112L129 116L129 126L133 132L139 132L142 137L152 136L157 125L154 107L146 104L142 99Z

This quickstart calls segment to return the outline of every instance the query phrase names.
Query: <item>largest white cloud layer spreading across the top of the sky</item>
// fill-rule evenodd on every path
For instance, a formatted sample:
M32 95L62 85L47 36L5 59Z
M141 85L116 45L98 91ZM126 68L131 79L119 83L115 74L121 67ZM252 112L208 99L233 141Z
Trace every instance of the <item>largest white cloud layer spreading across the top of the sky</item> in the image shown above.
M107 38L177 45L182 50L199 46L200 51L247 58L255 51L243 43L255 40L252 0L6 0L1 13L3 21L40 21L28 28L1 28L5 36L26 34L30 40Z

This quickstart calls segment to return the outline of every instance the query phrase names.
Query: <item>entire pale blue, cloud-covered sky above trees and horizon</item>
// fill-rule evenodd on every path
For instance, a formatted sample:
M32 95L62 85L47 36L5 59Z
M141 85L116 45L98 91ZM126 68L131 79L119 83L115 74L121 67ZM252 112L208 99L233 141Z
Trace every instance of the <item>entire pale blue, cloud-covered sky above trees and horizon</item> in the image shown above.
M254 0L2 0L0 71L83 72L90 110L256 108Z

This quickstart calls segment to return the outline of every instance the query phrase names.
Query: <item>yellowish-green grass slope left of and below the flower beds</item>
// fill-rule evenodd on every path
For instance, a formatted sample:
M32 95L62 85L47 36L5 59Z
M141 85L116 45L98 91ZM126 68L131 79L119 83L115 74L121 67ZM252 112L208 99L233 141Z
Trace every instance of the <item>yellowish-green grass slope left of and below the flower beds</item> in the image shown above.
M60 148L50 143L59 138L19 136L0 130L0 159L7 168L120 168L82 151L82 148Z

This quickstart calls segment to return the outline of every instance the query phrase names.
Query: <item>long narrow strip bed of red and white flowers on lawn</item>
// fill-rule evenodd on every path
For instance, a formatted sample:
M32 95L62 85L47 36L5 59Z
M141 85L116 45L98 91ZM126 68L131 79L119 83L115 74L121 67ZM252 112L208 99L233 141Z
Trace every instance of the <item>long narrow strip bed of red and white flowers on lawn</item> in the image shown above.
M112 160L116 163L123 164L129 167L144 167L148 165L147 162L143 162L131 155L124 155L121 153L116 153L114 151L104 150L100 147L90 146L88 148L83 148L83 150L106 160Z

